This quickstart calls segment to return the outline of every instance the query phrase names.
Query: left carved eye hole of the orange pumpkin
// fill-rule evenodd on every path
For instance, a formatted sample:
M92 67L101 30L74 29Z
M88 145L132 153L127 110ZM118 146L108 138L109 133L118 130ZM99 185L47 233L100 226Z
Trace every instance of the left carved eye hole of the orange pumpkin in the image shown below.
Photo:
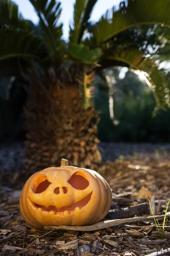
M51 182L47 180L45 175L38 175L31 182L32 192L35 194L42 193L48 188L48 186L50 186L50 184Z

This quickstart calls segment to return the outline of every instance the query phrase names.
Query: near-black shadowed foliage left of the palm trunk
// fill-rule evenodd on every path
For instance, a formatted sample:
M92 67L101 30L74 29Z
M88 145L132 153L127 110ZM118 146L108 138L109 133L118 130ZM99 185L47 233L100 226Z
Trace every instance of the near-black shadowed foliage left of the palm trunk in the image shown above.
M27 94L18 83L10 78L0 79L0 142L25 138L23 105Z

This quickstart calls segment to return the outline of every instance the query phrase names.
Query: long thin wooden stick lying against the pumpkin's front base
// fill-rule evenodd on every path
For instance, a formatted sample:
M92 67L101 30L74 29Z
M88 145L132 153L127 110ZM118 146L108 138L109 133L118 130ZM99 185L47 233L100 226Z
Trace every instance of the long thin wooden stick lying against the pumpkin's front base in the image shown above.
M167 215L170 216L170 215ZM156 219L164 218L164 215L157 215L155 216ZM45 230L77 230L77 231L92 231L92 230L99 230L107 227L118 226L120 224L127 224L133 223L137 221L149 221L153 220L153 216L146 216L146 217L134 217L134 218L125 218L119 220L108 220L108 221L101 221L91 226L46 226L44 227Z

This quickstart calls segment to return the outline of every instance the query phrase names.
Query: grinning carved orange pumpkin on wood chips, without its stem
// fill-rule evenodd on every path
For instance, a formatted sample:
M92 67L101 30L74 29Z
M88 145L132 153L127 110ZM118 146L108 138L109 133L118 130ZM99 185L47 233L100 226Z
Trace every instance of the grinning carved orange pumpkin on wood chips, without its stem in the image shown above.
M44 226L83 226L105 218L111 202L111 189L97 172L73 166L50 167L26 181L20 212L36 230Z

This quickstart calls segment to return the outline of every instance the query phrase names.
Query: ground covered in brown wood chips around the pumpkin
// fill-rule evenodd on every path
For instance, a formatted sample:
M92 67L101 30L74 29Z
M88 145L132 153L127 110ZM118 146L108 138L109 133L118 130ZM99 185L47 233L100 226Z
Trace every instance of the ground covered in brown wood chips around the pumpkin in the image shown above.
M170 254L170 145L101 143L103 163L98 172L112 189L107 220L127 218L113 227L94 231L44 230L27 226L19 198L25 182L22 143L0 145L0 255L156 256ZM152 216L148 195L159 227ZM140 221L129 223L133 217ZM161 229L161 230L160 230Z

